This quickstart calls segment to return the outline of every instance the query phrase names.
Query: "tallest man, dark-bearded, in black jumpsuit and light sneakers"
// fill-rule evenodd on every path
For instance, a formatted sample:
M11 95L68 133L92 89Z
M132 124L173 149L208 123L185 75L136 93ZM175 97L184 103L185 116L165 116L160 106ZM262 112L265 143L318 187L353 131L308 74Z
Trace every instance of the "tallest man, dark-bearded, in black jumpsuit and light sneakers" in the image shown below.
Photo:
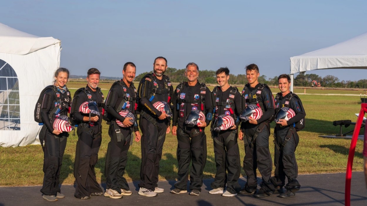
M147 197L157 196L157 193L164 191L157 187L157 183L163 143L170 132L170 118L153 107L153 103L163 101L170 104L173 89L169 78L164 75L166 69L166 58L157 57L153 63L153 73L146 74L138 86L141 107L139 126L142 130L138 194Z

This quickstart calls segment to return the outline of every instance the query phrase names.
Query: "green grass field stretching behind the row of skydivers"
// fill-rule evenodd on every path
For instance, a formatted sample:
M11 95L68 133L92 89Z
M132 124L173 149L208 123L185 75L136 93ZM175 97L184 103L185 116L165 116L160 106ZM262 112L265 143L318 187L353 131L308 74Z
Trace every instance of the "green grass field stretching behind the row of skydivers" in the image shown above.
M112 82L101 82L103 93L107 93ZM69 88L84 87L85 82L69 82ZM137 86L137 84L135 84ZM211 88L212 89L212 88ZM70 89L73 93L76 89ZM278 89L272 88L273 92ZM295 93L303 93L304 89L295 89ZM306 89L307 93L339 93L339 94L360 94L363 90L322 90ZM345 172L350 146L349 139L324 139L319 135L336 134L339 127L332 125L334 120L351 119L356 121L355 113L359 113L359 96L327 96L327 95L299 95L302 99L306 111L306 128L299 132L300 142L296 151L296 159L300 174L309 173L335 173ZM274 123L271 124L272 128ZM98 182L105 182L104 166L107 144L109 136L107 125L102 130L102 144L99 150L99 159L95 168ZM351 130L353 126L345 129ZM363 130L361 131L362 134ZM271 130L273 133L273 129ZM73 184L73 164L75 159L75 146L77 136L70 133L66 146L63 165L61 169L61 184ZM211 178L215 175L215 161L213 143L210 132L207 129L207 150L208 157L204 168L204 178ZM270 153L274 153L273 137L270 135ZM241 162L244 157L243 141L239 141ZM175 180L177 175L176 159L177 139L171 134L167 135L163 147L163 157L160 162L160 180ZM363 141L358 140L356 154L353 163L353 171L363 170ZM40 145L31 145L16 148L0 147L0 185L41 185L43 181L43 152ZM272 156L273 157L273 156ZM141 163L140 143L134 142L128 152L128 163L125 177L129 181L139 180ZM273 168L274 170L274 168ZM241 175L244 172L241 169Z

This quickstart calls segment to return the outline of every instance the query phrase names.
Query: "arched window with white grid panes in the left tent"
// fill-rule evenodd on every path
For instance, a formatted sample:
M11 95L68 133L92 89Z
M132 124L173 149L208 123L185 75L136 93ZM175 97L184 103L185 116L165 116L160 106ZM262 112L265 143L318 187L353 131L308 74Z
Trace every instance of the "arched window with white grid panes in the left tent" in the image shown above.
M0 130L20 130L19 81L14 69L0 59Z

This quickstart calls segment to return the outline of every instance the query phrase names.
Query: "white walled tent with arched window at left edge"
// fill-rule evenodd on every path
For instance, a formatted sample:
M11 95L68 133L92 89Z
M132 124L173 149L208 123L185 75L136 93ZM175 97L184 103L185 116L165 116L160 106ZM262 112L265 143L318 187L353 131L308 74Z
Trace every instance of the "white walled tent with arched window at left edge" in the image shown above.
M34 105L60 65L61 41L0 23L0 146L39 143Z

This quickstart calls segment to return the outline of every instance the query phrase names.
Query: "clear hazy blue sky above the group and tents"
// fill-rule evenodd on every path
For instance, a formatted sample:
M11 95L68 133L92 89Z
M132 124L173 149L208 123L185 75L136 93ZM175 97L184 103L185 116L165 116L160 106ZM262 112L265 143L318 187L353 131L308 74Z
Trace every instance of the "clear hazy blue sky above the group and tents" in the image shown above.
M0 22L62 41L61 66L84 75L121 77L131 61L137 74L164 56L168 66L228 66L245 73L255 63L268 78L289 73L291 56L367 32L367 1L19 1L1 3ZM366 78L366 70L317 70L339 80Z

